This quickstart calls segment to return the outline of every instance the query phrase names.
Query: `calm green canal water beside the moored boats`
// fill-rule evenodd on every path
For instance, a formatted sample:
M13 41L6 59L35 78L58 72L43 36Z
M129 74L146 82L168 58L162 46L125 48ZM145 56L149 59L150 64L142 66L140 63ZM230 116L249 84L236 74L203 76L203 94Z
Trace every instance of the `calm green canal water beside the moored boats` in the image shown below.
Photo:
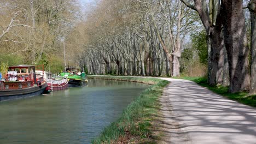
M89 80L83 88L0 103L0 143L90 143L148 85Z

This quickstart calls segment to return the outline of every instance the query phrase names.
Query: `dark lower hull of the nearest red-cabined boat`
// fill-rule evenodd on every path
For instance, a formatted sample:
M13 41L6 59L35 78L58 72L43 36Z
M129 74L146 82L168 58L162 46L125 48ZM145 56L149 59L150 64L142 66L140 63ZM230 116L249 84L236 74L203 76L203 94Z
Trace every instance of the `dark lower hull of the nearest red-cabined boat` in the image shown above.
M40 86L34 86L34 87L30 87L30 88L2 90L2 91L0 91L0 101L21 99L21 98L33 97L36 95L40 95L45 91L45 88L47 86L48 86L47 83L44 82Z

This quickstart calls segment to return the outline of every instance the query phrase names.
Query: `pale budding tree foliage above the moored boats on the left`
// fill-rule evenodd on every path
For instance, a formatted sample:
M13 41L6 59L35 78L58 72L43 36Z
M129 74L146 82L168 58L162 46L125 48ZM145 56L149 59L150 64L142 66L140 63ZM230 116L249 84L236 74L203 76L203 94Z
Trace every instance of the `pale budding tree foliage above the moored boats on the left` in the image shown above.
M1 54L19 53L23 63L37 65L45 64L45 53L62 57L56 51L62 48L62 39L80 11L76 0L3 0L0 13Z

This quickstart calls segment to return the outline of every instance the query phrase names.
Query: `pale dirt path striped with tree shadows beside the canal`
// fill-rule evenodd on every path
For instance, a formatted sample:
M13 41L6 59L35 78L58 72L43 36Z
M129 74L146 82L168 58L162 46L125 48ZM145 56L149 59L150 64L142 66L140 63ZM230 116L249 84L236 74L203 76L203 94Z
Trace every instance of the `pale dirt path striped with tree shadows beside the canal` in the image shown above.
M187 80L171 81L162 95L161 143L256 143L256 109Z

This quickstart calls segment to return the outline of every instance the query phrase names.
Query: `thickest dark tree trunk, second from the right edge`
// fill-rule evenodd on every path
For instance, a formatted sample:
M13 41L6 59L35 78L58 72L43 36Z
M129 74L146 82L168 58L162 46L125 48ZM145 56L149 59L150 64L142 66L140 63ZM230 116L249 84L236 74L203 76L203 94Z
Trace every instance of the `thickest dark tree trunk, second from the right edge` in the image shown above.
M229 62L229 92L247 91L250 87L249 49L246 45L247 38L242 1L222 0L222 4L225 46Z

